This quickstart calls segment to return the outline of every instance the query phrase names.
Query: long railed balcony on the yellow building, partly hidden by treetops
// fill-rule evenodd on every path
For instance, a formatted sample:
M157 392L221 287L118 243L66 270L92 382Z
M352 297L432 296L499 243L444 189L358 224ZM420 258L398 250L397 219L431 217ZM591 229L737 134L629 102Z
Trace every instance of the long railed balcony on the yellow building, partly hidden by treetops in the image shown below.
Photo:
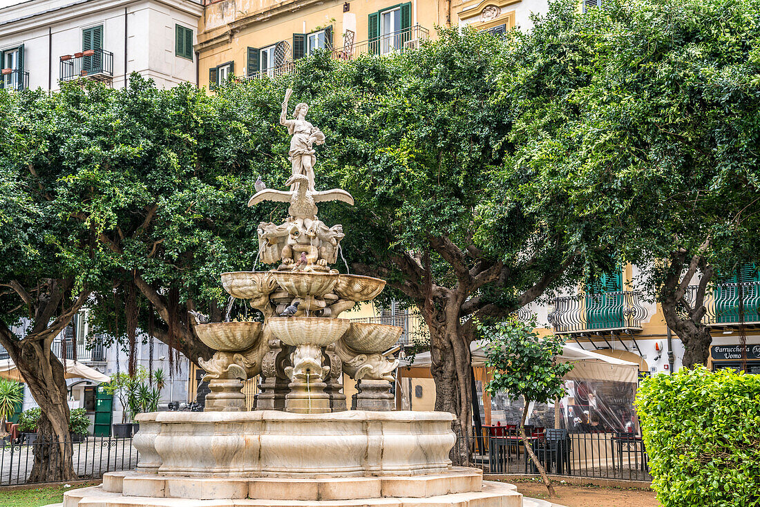
M353 60L363 54L390 55L408 51L420 47L420 41L429 37L429 30L419 24L404 28L394 33L379 36L376 39L353 42L353 32L347 30L344 36L344 46L340 49L329 49L331 57L336 60ZM291 58L290 47L284 52L286 59ZM279 65L255 72L245 76L245 79L277 78L283 74L290 74L299 65L301 60L288 60Z

